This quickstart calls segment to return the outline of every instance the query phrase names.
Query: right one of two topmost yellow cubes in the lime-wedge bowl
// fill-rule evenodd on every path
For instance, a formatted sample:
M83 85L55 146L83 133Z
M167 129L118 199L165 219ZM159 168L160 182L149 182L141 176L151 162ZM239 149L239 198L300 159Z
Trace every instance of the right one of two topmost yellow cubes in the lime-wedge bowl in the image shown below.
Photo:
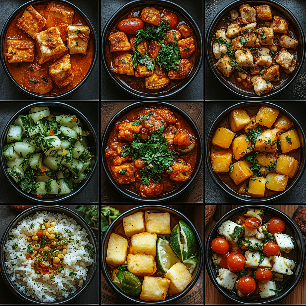
M144 213L146 231L158 235L170 235L170 214L165 213Z

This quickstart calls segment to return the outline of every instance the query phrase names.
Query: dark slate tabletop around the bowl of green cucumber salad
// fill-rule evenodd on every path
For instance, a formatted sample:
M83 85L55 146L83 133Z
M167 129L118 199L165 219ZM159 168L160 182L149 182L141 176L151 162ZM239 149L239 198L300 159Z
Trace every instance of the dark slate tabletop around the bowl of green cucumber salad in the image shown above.
M9 121L9 119L16 114L19 110L32 102L0 102L0 134ZM99 139L99 103L98 102L65 102L68 105L73 106L79 110L91 123L95 129L96 135ZM4 176L2 170L0 170L0 203L32 203L30 200L24 198L11 186L9 181ZM99 203L99 162L95 169L90 182L86 187L75 197L68 200L67 203Z

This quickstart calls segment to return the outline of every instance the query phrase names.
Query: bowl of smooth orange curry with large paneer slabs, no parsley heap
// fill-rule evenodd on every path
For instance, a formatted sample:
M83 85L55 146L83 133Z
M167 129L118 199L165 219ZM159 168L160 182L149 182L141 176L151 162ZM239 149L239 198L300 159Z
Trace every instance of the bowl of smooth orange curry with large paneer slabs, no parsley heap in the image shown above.
M30 1L17 8L1 32L6 75L32 98L72 94L90 75L98 39L86 15L65 1Z

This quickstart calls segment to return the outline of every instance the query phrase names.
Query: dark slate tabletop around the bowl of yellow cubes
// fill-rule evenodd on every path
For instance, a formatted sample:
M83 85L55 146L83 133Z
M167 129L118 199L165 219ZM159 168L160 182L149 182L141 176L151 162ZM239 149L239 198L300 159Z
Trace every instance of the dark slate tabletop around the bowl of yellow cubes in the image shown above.
M205 139L208 136L209 129L217 117L226 109L233 106L234 102L206 102L205 103ZM305 103L304 102L274 102L276 105L287 110L302 126L306 129L306 118L305 118ZM205 147L205 154L206 147ZM306 171L300 178L297 185L287 194L269 203L306 203ZM234 198L228 196L223 192L211 179L208 173L207 164L205 161L205 203L235 203L237 202Z

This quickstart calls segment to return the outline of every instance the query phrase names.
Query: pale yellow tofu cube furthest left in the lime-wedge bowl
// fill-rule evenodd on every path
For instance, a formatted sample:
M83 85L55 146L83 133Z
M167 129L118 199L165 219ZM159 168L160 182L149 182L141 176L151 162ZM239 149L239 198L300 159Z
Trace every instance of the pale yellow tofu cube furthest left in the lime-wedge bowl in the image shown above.
M111 267L125 265L127 255L128 241L115 233L111 233L107 245L106 263Z

